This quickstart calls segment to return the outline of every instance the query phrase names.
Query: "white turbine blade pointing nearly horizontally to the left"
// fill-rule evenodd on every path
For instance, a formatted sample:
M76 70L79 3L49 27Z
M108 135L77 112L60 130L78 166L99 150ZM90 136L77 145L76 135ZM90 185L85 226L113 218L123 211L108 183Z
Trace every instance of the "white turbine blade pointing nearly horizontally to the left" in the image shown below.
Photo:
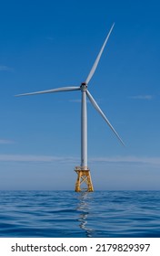
M62 88L56 88L56 89L51 89L51 90L46 90L46 91L35 91L35 92L18 94L18 95L15 95L15 97L35 95L35 94L44 94L44 93L53 93L53 92L59 92L59 91L78 91L78 90L80 90L80 87L74 87L74 86L73 87L62 87Z

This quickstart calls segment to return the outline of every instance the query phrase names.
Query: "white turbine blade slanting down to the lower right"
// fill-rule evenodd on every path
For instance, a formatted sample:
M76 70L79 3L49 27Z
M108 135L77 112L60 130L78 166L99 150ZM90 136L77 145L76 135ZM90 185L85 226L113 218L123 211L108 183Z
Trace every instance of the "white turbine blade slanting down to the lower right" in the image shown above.
M89 91L86 91L86 95L88 97L88 99L91 101L91 103L93 104L93 106L95 107L95 110L97 112L100 113L100 115L105 119L105 122L108 124L108 126L111 128L111 130L115 133L116 137L119 139L119 141L121 142L121 144L125 145L123 140L120 138L120 136L118 135L118 133L115 132L114 127L111 125L111 123L109 123L109 121L107 120L107 118L105 117L105 113L102 112L102 110L100 109L100 107L98 106L98 104L96 103L96 101L94 100L94 98L92 97L92 95L90 94Z

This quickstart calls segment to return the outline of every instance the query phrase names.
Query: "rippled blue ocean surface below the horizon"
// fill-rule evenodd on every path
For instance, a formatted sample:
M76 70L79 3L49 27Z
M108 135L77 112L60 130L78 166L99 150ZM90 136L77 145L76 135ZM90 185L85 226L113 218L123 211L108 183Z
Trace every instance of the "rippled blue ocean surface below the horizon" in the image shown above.
M0 237L160 238L160 191L0 191Z

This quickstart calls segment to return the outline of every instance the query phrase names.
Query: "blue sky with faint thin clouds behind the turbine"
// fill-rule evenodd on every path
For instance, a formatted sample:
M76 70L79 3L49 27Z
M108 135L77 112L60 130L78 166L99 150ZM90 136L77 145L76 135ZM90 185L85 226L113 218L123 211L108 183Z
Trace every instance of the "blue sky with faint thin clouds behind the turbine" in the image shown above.
M5 0L0 4L0 189L74 190L78 86L115 22L89 91L88 166L95 190L160 189L160 4L144 0Z

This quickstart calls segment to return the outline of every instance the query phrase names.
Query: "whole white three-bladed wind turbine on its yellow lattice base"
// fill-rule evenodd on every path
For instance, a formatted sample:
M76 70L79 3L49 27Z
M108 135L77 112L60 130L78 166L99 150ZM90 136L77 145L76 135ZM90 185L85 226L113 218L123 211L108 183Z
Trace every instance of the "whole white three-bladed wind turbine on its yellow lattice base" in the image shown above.
M54 93L54 92L59 92L59 91L81 91L82 93L82 101L81 101L81 165L75 167L75 172L77 173L77 180L75 183L75 191L79 192L83 188L81 188L81 185L85 183L86 190L87 191L94 191L93 185L92 185L92 180L90 176L90 170L87 166L87 113L86 113L86 97L91 101L92 105L95 107L95 110L99 112L99 114L104 118L105 122L108 124L110 129L115 133L115 136L118 138L118 140L121 142L121 144L124 145L122 139L118 135L118 133L115 132L114 127L109 123L108 119L105 117L105 113L102 112L96 101L94 100L93 96L91 93L88 91L87 86L89 81L92 79L95 69L97 68L97 65L99 63L99 60L101 58L101 55L104 51L106 42L108 38L110 37L110 34L114 28L115 24L112 25L112 27L109 30L109 33L107 34L105 38L105 42L102 46L102 48L99 51L99 54L97 55L95 59L95 63L90 70L86 80L81 83L80 86L78 87L62 87L62 88L56 88L56 89L51 89L47 91L35 91L35 92L29 92L29 93L23 93L23 94L18 94L15 95L17 96L26 96L26 95L36 95L36 94L44 94L44 93Z

